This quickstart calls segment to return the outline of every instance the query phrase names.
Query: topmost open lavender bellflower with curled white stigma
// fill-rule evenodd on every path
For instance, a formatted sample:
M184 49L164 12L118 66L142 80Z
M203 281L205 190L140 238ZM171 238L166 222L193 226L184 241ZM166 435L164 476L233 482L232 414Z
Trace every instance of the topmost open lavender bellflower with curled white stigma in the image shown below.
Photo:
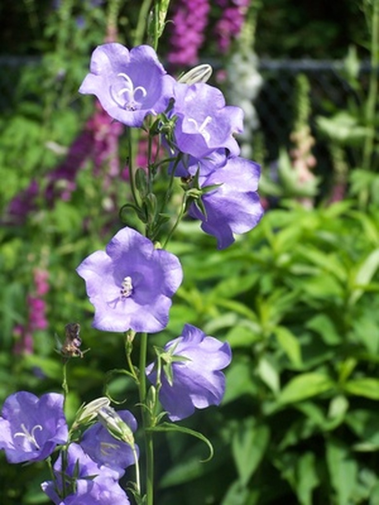
M157 115L166 109L174 82L149 45L129 51L111 42L92 53L90 73L79 93L96 95L112 118L139 127L148 114Z

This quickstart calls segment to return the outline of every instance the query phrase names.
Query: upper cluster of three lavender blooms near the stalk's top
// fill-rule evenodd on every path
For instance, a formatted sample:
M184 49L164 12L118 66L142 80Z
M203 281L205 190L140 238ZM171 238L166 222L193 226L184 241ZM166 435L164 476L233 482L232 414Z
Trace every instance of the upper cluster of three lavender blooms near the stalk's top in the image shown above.
M93 52L80 92L98 96L108 114L129 127L141 126L148 115L169 111L175 122L171 155L182 157L175 175L191 178L198 171L203 206L194 202L189 214L217 238L218 248L230 245L234 233L251 230L259 222L260 169L238 158L240 147L233 136L243 131L243 111L227 106L219 89L203 82L176 82L150 46L129 52L121 44L108 43ZM212 185L217 186L208 193Z

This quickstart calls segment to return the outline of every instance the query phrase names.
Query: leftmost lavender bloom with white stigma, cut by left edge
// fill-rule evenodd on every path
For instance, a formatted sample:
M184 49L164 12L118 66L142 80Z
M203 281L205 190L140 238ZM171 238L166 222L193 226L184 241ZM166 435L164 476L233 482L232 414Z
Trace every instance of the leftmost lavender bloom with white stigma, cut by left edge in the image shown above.
M9 463L43 460L58 444L67 442L63 395L46 393L40 398L18 391L5 400L0 417L0 449Z

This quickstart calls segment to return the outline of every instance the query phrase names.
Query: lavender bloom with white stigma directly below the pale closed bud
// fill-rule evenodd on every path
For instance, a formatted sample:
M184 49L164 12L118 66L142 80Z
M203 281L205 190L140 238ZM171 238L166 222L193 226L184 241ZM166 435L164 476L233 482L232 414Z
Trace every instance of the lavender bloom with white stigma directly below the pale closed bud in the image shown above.
M233 133L243 131L244 114L239 107L226 106L218 88L203 82L191 86L176 83L174 98L175 142L182 153L200 159L225 148L231 156L240 154Z

